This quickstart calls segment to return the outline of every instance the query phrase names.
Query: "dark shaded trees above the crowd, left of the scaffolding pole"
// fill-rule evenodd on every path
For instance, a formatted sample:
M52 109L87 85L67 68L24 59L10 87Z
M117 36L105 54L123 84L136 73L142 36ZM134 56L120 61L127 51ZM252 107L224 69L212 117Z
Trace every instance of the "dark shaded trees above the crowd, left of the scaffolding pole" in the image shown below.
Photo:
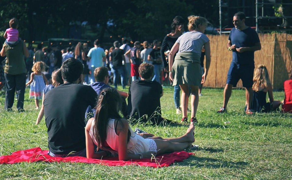
M217 0L1 0L3 25L0 25L0 31L5 31L9 27L9 19L16 17L19 19L20 37L28 37L28 42L68 38L69 29L73 26L69 23L77 21L88 21L92 29L90 33L93 33L91 37L101 42L104 42L106 31L116 39L162 40L170 32L175 16L181 15L186 19L189 15L201 15L216 25L218 11ZM112 26L107 25L109 21Z

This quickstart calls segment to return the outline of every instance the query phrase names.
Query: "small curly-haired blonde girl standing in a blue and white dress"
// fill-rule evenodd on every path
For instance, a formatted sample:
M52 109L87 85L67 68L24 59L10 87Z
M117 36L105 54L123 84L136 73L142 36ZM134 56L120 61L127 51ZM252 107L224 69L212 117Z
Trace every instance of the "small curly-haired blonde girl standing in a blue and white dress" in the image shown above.
M30 81L25 84L26 86L30 84L30 98L34 98L36 109L39 109L39 99L42 99L43 89L49 85L46 76L42 73L44 69L45 63L43 61L34 63L33 68L31 68L33 73L30 74Z

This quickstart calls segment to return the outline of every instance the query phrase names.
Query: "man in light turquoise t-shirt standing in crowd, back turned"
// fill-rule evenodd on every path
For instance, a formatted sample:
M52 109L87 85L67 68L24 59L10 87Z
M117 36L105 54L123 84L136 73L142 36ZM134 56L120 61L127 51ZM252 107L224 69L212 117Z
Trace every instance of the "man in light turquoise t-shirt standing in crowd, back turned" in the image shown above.
M91 74L90 80L92 83L94 82L94 70L97 67L103 66L103 61L106 61L106 54L104 53L104 49L99 46L99 41L96 39L94 41L94 47L91 48L87 54L88 58L91 60Z

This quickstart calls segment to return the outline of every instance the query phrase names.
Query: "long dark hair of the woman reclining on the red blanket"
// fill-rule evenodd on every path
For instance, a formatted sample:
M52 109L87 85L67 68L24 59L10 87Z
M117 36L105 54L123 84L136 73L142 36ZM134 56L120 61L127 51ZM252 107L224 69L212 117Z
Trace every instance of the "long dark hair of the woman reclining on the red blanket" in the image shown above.
M106 136L107 136L107 124L108 120L118 119L120 116L120 110L122 107L122 101L120 94L116 89L108 87L103 89L99 93L99 97L96 105L95 122L93 126L93 136L99 144L99 148L106 147ZM128 131L128 140L129 140Z

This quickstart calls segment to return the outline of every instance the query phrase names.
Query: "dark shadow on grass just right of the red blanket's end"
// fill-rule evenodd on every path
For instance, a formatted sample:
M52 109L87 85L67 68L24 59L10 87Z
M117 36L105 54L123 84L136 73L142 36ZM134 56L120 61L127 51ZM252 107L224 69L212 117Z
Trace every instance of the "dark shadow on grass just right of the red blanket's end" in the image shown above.
M206 168L244 168L243 166L249 165L247 162L238 161L220 161L219 159L214 158L199 158L194 157L194 163L191 163L190 166L195 167L206 167Z

